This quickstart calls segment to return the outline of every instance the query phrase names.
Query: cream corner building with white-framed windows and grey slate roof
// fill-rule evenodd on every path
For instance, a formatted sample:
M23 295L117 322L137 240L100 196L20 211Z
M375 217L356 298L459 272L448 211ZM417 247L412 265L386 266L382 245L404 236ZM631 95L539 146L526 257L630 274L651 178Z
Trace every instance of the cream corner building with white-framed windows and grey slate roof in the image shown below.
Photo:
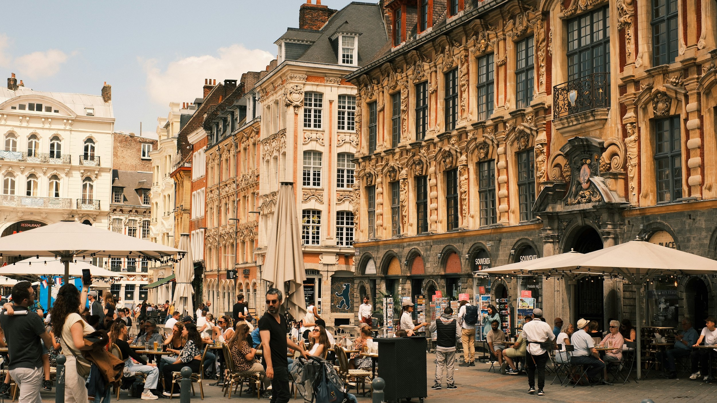
M347 296L360 215L353 191L358 110L356 87L342 77L366 65L387 36L379 4L337 11L317 3L301 5L299 28L277 39L277 66L255 87L261 110L256 255L261 265L280 183L293 182L306 303L331 326L351 323L358 308Z

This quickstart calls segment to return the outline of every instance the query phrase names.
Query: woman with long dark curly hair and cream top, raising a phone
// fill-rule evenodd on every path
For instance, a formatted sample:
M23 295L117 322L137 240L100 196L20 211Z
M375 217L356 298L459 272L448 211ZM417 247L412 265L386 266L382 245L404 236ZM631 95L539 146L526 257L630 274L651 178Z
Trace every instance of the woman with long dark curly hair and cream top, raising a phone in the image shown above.
M74 284L65 284L57 292L52 306L52 333L60 336L62 354L65 355L65 402L86 403L86 379L77 374L77 359L82 356L80 349L85 346L85 335L95 331L82 320L80 312L87 304L87 285L82 285L82 293Z

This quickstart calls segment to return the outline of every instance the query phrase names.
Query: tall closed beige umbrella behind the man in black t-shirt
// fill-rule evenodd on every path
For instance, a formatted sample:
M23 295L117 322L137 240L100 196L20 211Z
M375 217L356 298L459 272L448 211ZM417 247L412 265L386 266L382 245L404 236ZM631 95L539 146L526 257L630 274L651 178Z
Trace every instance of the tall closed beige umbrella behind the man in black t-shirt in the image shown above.
M274 222L262 278L285 292L284 308L295 319L306 314L303 284L306 280L300 226L296 217L294 184L282 182L277 196Z

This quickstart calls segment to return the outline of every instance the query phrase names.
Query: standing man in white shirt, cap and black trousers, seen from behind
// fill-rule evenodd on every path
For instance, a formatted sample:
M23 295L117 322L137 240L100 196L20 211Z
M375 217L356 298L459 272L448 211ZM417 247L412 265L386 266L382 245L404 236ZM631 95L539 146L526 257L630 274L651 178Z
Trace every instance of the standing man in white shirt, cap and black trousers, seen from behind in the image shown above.
M526 351L526 372L528 372L528 393L536 392L536 370L538 371L538 396L543 396L545 387L545 364L548 362L548 350L553 349L555 340L553 328L548 323L541 321L543 310L533 309L533 319L523 325L523 335L528 339ZM550 346L549 346L550 345Z

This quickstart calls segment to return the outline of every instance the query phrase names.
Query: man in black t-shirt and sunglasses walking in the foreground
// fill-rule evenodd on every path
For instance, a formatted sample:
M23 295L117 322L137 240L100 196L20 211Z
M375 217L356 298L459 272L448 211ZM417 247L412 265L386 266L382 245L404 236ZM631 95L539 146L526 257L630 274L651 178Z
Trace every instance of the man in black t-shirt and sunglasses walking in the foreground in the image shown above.
M259 335L262 338L264 350L264 366L266 376L271 379L272 397L270 403L286 403L291 394L289 392L289 371L286 353L288 347L301 351L306 358L306 351L301 349L287 336L286 319L279 314L282 302L282 293L276 288L270 288L266 293L267 310L259 320ZM267 354L270 352L270 354Z

